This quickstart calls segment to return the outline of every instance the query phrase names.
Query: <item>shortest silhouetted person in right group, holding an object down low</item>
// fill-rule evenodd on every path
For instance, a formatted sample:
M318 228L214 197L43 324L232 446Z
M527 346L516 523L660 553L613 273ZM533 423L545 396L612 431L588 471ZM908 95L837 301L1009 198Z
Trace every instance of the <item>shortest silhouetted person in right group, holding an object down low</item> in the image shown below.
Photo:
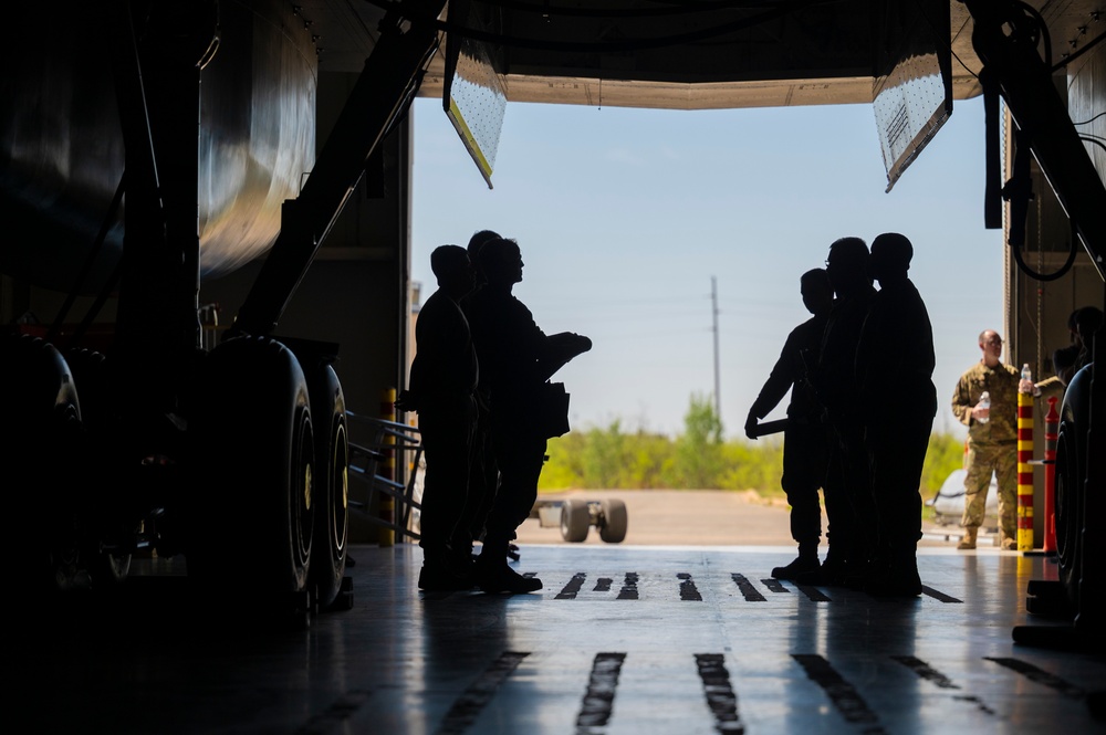
M791 537L799 544L799 558L772 569L776 579L815 582L818 577L818 539L822 538L822 505L818 490L825 484L828 442L822 411L806 382L807 366L817 364L822 336L833 306L833 288L822 269L800 279L803 305L813 314L787 335L780 359L749 409L745 434L757 439L757 422L791 391L787 428L783 434L781 485L791 506Z

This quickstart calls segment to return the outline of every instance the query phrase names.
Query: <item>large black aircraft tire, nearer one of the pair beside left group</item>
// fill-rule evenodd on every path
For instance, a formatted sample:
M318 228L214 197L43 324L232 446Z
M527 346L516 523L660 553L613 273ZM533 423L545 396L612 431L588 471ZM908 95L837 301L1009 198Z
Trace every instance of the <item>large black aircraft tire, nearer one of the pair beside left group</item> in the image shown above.
M218 345L201 366L188 433L190 581L251 615L298 613L290 600L307 591L314 533L314 439L299 360L268 337Z

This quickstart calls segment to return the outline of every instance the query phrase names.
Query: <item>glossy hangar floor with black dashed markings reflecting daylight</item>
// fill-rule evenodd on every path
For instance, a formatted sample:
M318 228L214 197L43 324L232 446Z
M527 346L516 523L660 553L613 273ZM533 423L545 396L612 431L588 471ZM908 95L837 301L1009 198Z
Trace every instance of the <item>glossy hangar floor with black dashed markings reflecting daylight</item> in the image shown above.
M229 630L219 601L184 603L174 576L132 577L109 610L18 605L8 716L28 733L206 735L1075 735L1106 724L1095 716L1106 658L1012 640L1015 624L1037 622L1025 589L1055 576L1044 557L922 549L926 594L884 600L770 579L786 547L521 554L540 594L420 594L417 546L356 546L353 609L301 631Z

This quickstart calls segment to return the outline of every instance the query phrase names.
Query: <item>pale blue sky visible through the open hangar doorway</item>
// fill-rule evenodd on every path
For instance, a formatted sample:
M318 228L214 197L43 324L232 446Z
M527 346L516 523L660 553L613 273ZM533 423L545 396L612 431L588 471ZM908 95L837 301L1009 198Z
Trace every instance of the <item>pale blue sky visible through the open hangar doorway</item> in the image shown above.
M793 326L799 277L844 235L898 231L937 345L935 428L977 337L1002 330L1002 233L983 228L983 114L953 114L890 192L870 105L647 111L511 103L489 190L440 102L416 101L413 277L429 254L477 230L514 238L514 294L547 333L592 338L554 379L573 427L676 433L689 397L714 386L711 277L718 284L722 422L743 435ZM894 396L872 410L894 410ZM785 401L769 418L783 416Z

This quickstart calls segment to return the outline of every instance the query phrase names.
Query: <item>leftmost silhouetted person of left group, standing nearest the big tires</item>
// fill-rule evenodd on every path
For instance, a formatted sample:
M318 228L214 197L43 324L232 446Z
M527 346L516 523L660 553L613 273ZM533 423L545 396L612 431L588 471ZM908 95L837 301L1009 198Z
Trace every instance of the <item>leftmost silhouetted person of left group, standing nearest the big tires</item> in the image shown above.
M430 294L415 323L415 359L408 390L397 408L419 418L426 477L419 546L424 590L472 587L472 538L458 523L466 513L469 452L476 427L477 355L468 321L458 301L472 288L468 253L441 245L430 253L438 290Z

